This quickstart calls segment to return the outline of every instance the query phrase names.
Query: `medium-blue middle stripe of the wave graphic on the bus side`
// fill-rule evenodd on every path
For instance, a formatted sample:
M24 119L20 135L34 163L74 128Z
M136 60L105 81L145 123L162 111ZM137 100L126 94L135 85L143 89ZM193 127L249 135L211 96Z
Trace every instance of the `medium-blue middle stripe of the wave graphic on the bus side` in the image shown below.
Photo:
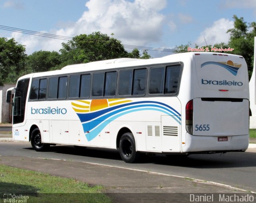
M174 116L176 116L173 111L170 111L170 109L167 109L167 108L162 107L160 105L155 105L155 104L136 105L136 106L132 106L132 107L125 107L125 108L122 108L122 109L117 109L116 111L112 111L112 112L110 112L108 114L105 114L105 115L102 115L101 117L98 117L94 121L89 121L89 122L83 123L84 132L90 131L90 129L93 129L94 127L99 125L102 121L105 121L105 120L113 121L113 117L112 116L115 115L115 114L118 114L118 113L120 113L122 111L126 111L126 110L129 110L129 109L138 109L138 108L141 108L141 107L156 107L156 108L151 108L151 110L158 110L158 108L160 108L160 109L163 109L162 112L166 113L167 115L174 115ZM130 113L130 112L133 112L133 111L136 111L136 110L126 111L126 112ZM178 117L178 119L175 118L176 121L178 123L180 123L181 118L179 116L176 116L176 117Z

